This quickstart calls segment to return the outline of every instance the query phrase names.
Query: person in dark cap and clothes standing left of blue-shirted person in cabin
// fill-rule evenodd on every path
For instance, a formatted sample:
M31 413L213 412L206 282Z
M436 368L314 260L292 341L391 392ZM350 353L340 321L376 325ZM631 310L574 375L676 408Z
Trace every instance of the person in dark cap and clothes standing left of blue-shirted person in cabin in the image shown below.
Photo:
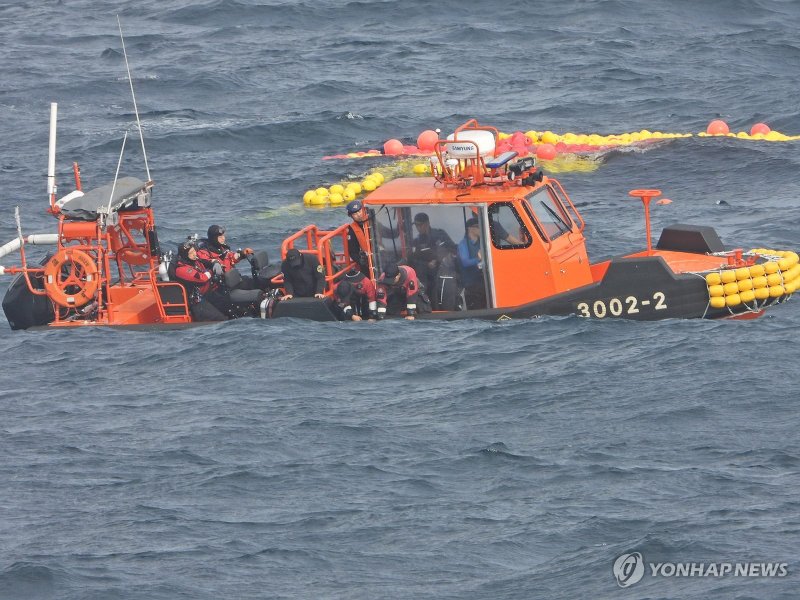
M411 242L409 264L416 271L417 277L425 289L431 293L433 307L439 308L436 299L442 294L435 293L439 289L439 266L444 263L447 277L454 277L456 245L444 229L434 229L427 213L414 215L414 226L419 235Z

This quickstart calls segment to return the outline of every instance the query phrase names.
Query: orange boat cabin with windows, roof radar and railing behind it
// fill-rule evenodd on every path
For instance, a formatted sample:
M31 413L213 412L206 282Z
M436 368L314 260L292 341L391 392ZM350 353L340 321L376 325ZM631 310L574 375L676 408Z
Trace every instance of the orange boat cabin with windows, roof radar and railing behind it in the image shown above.
M515 152L495 157L497 135L494 128L470 121L439 141L432 177L395 179L364 199L375 279L389 262L410 265L433 309L445 311L519 306L592 282L580 213L558 181L537 170L533 158ZM283 251L302 234L313 233L308 251L319 249L333 289L341 271L358 262L343 243L349 226L303 230L286 240ZM446 241L438 247L419 243L431 231L436 240ZM440 277L456 278L460 288L483 288L483 293L453 305L432 289L442 282L434 283L427 265L435 266ZM442 275L448 267L450 273Z

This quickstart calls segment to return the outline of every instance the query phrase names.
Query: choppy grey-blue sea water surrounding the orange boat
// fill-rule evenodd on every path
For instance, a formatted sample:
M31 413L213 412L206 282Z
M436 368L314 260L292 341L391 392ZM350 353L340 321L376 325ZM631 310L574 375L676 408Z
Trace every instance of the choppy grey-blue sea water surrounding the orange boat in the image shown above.
M800 133L796 2L23 0L0 4L0 241L15 204L51 225L50 101L62 190L72 160L113 176L117 11L172 241L222 221L274 252L342 220L299 208L308 187L373 166L321 156L469 117ZM797 143L693 138L560 178L599 257L642 244L626 192L650 186L674 200L657 226L797 248L797 171ZM799 324L795 300L747 323L7 330L0 598L795 598ZM623 590L627 551L789 575Z

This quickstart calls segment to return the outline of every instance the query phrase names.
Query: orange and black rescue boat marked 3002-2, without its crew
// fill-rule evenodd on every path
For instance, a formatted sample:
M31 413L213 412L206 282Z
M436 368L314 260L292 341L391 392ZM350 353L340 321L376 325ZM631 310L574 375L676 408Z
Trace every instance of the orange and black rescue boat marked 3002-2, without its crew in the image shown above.
M20 254L19 266L0 266L0 275L14 275L2 303L9 325L197 324L186 289L171 280L171 253L163 252L159 243L149 172L146 181L115 178L84 192L75 163L76 189L57 199L56 112L52 105L48 211L57 219L57 229L23 235L17 210L18 236L0 246L0 258ZM418 316L423 319L752 318L786 301L800 285L795 252L726 250L710 227L672 225L653 246L649 207L658 190L631 192L644 207L646 249L592 263L585 247L586 224L561 184L532 158L514 151L498 154L497 139L496 129L469 121L437 142L431 177L395 179L368 194L363 200L369 214L363 256L350 255L350 223L333 230L308 225L286 238L283 257L292 248L316 256L326 283L323 299L281 301L281 276L269 266L266 253L256 253L253 277L269 279L271 289L258 304L249 296L243 299L231 318L335 320L333 290L348 271L362 268L378 281L389 263L414 265L421 260L435 265L426 274L433 310ZM464 238L466 224L477 225L474 244L481 260L469 287L482 291L478 303L465 293L466 269L452 246L445 246L443 253L417 255L413 222L422 212L453 245ZM28 247L41 244L53 248L31 264ZM366 267L361 266L363 259ZM225 279L232 280L227 283L233 289L236 277ZM235 299L233 292L230 296Z

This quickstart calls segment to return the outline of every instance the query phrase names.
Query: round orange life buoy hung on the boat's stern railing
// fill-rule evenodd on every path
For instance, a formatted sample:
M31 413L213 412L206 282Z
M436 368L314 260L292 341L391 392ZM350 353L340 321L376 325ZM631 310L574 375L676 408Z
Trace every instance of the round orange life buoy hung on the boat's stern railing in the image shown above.
M44 289L59 306L83 306L94 298L99 283L95 261L74 248L62 248L44 267Z

